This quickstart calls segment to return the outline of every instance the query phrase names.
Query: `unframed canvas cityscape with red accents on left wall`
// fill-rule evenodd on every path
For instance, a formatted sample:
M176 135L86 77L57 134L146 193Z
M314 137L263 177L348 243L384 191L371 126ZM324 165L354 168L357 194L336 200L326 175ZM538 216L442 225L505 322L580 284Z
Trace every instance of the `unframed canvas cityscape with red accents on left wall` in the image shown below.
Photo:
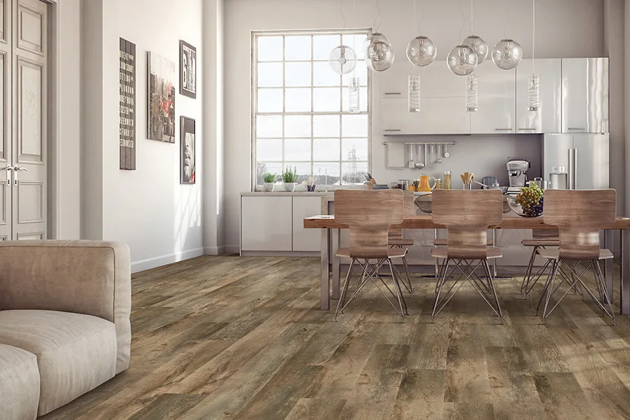
M154 52L146 53L147 128L150 140L175 143L176 64Z

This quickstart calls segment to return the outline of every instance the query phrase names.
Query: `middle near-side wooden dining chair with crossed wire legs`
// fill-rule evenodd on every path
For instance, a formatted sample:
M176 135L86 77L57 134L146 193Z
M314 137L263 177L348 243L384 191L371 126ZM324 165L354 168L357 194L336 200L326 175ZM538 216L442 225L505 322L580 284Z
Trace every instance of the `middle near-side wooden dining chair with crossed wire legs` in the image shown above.
M448 245L431 249L433 258L442 258L440 275L435 285L435 318L449 300L468 281L483 297L503 323L503 312L488 260L500 258L501 250L487 245L487 230L503 221L503 196L500 190L435 190L433 191L433 223L447 228ZM449 265L454 264L449 272ZM476 262L476 265L475 265ZM481 265L484 276L475 270ZM458 269L451 286L442 296L447 279ZM459 283L459 286L455 286Z

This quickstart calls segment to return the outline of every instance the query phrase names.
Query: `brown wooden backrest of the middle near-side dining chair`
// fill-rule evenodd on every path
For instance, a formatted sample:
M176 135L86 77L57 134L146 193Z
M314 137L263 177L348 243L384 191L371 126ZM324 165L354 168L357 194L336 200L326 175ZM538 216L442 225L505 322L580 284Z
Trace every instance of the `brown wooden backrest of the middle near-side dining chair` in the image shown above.
M449 258L480 259L487 256L487 229L503 221L500 190L434 190L431 217L445 225Z

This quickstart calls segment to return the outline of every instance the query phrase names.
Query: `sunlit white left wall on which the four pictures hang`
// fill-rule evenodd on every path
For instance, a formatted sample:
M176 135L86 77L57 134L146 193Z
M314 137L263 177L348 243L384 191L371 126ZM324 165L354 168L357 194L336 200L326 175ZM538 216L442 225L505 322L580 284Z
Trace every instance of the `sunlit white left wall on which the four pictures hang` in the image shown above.
M87 10L83 13L84 43L96 49L90 52L87 46L83 48L83 106L87 109L83 119L84 236L98 237L101 233L102 239L128 244L133 271L202 255L202 94L197 99L179 94L179 70L174 80L176 143L146 139L147 51L172 60L179 69L179 40L197 47L197 90L203 92L202 0L180 0L176 4L170 0L90 0L83 2L83 8ZM90 18L99 20L99 15L101 31L98 22L90 22ZM92 31L94 40L90 40ZM118 169L120 37L137 48L135 171ZM196 120L195 185L179 183L180 116ZM97 174L90 175L92 171ZM102 214L91 214L90 209L98 207L99 201Z

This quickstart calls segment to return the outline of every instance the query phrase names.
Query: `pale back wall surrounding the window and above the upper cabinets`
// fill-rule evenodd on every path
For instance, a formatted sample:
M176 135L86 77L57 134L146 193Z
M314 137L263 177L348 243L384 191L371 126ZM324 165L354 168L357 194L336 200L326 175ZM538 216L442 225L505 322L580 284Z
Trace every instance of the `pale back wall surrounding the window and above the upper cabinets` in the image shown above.
M239 247L239 192L251 189L250 156L250 76L251 31L283 29L342 28L339 0L230 0L225 3L225 248ZM344 2L347 27L372 27L377 15L376 1ZM503 26L510 4L507 35L516 39L531 57L531 1L476 0L475 32L488 43L503 38ZM445 59L459 40L463 24L458 0L423 0L426 18L422 31L437 43L437 59ZM470 2L464 1L465 22L470 22ZM413 25L412 0L380 1L383 13L380 31L394 46L397 62L406 65L405 48L416 34ZM418 12L420 13L420 12ZM465 24L462 37L469 33ZM601 57L604 50L603 0L538 0L536 2L536 57ZM444 69L447 71L447 69ZM379 97L379 78L372 78L374 97ZM374 93L376 92L376 93ZM379 182L400 178L400 172L389 172L382 158L384 138L380 133L378 101L372 102L372 172ZM450 137L440 137L449 139ZM480 148L469 137L461 141L458 154L471 161L484 162L499 170L506 155ZM503 137L506 148L520 147L521 137ZM535 153L535 150L532 151ZM503 152L501 152L503 153ZM455 158L455 156L454 156ZM485 166L484 166L485 167ZM621 170L621 168L617 168ZM486 171L482 172L486 174ZM497 173L497 175L500 175ZM409 178L409 176L405 176Z

